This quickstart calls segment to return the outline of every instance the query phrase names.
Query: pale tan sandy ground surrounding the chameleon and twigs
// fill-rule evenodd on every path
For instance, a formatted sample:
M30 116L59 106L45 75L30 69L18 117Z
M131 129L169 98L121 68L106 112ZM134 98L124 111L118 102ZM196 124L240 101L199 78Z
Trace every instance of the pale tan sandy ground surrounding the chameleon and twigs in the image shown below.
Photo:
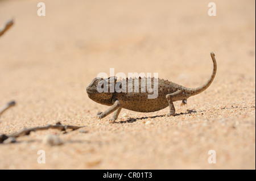
M255 169L255 1L216 0L217 16L199 0L43 2L40 17L36 1L0 1L0 26L15 19L0 37L0 105L16 101L0 133L57 121L85 128L1 144L0 169ZM175 117L168 108L94 117L108 108L85 92L98 73L159 73L197 87L212 72L211 51L216 78L187 106L175 102ZM64 144L43 144L48 134Z

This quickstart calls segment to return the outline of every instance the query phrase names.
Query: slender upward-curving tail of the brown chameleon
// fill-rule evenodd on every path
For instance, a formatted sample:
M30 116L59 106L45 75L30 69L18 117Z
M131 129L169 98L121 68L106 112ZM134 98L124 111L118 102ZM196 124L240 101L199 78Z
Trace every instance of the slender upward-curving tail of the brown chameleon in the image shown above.
M215 54L213 52L210 52L210 56L212 57L212 62L213 62L212 75L210 75L210 78L208 79L207 82L204 83L204 85L202 85L200 87L193 88L193 89L187 88L187 90L188 90L187 93L189 94L189 96L200 94L201 92L206 90L212 83L212 81L216 75L216 72L217 72L217 62L215 60Z

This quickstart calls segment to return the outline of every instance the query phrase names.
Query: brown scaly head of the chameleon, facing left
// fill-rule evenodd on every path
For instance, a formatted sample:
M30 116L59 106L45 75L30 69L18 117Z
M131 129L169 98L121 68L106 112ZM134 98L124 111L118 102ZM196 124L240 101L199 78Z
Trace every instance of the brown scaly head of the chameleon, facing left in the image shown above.
M110 87L114 86L116 82L116 79L114 79L114 82L111 82L112 79L112 77L109 77L108 79L99 77L94 78L86 88L89 98L94 102L104 104L106 106L112 106L113 91L111 91Z

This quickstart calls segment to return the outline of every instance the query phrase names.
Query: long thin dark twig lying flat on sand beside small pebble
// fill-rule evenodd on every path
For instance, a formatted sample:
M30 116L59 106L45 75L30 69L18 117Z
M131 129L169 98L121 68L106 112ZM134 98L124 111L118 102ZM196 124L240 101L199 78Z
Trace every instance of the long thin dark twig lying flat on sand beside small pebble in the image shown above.
M0 144L5 141L7 138L13 137L20 137L20 136L25 136L30 134L30 132L35 132L35 131L41 131L41 130L47 130L47 129L59 129L61 131L66 131L67 129L72 129L72 130L76 130L79 128L83 128L83 127L78 127L78 126L73 126L73 125L62 125L60 122L56 123L56 125L47 125L44 127L34 127L34 128L24 128L22 131L13 133L13 134L9 134L9 135L5 135L5 134L1 134L0 135Z

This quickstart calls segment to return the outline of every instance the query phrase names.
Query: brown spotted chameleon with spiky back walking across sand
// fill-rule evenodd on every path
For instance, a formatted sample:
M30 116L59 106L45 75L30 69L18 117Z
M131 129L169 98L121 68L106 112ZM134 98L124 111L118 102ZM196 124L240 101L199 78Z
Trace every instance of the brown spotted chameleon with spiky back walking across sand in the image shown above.
M108 116L110 113L114 112L113 117L109 119L110 121L115 121L118 118L119 113L121 112L122 108L131 110L131 111L137 111L137 112L155 112L162 110L169 106L170 111L166 114L166 116L174 116L175 115L175 107L174 102L181 100L181 105L187 104L187 99L190 96L200 94L204 90L206 90L210 84L213 82L213 79L217 72L217 62L215 59L215 54L213 52L210 52L210 56L212 57L213 61L213 71L210 75L210 78L207 82L204 83L204 85L196 88L187 88L183 87L181 85L178 85L174 82L159 79L156 80L156 78L150 78L151 83L154 81L158 81L158 96L155 99L148 99L148 94L151 94L148 91L142 91L142 78L126 78L117 81L117 77L109 77L108 79L104 78L94 78L93 81L90 83L88 87L86 87L86 92L90 99L94 100L94 102L110 106L108 110L104 112L97 113L98 119L102 119L106 116ZM114 79L114 82L113 82ZM126 92L120 92L117 90L114 91L106 91L106 92L99 92L97 89L97 86L102 87L103 83L102 81L108 82L108 90L110 90L110 83L113 83L113 85L117 85L120 82L125 81L127 84L129 81L133 82L133 85L135 85L135 82L139 82L139 92L134 92L134 88L132 92L126 91ZM135 86L134 86L135 87ZM126 89L128 90L128 86L126 86Z

